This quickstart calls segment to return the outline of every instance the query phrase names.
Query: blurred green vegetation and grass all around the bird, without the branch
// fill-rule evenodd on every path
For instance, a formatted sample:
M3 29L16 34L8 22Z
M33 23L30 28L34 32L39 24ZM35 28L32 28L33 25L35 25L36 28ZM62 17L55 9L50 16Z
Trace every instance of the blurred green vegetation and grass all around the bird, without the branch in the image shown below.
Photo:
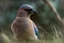
M62 0L49 0L49 2L63 19ZM18 43L13 38L10 26L16 17L19 6L22 4L30 4L38 11L38 14L32 15L31 19L38 26L40 40L29 43L63 43L62 29L56 21L54 13L45 4L44 0L0 0L0 43Z

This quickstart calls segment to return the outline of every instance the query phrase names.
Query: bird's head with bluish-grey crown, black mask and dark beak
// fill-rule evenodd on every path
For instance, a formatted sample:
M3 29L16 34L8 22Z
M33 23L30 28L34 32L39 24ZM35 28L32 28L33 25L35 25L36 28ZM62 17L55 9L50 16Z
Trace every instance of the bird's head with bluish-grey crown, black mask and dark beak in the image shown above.
M24 13L22 13L22 12L24 12ZM23 4L19 8L19 13L23 14L23 15L25 13L27 13L27 15L32 15L32 14L37 14L37 11L32 6L30 6L28 4Z

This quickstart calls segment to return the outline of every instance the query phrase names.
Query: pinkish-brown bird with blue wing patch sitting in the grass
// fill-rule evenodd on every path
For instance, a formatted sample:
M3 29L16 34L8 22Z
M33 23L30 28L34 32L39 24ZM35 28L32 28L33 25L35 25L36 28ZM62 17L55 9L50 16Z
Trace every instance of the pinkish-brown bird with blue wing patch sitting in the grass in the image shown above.
M19 7L15 20L11 24L11 30L17 40L38 40L38 28L31 20L31 15L37 14L29 4Z

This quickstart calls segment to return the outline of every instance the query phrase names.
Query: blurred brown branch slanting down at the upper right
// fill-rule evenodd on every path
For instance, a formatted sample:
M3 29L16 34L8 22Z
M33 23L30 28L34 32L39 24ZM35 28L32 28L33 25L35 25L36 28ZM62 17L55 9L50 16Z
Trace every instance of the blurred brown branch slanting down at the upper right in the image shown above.
M64 22L62 21L59 13L55 9L55 7L48 0L42 0L42 1L44 1L45 4L47 4L48 7L51 9L51 11L54 13L55 19L58 21L58 23L60 24L60 26L64 27Z

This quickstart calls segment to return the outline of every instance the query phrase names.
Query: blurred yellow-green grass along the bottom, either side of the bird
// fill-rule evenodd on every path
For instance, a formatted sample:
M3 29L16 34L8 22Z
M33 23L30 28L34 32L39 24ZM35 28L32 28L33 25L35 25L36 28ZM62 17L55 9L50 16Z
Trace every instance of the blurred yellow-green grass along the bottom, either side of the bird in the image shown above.
M55 36L51 36L51 35L46 35L44 36L43 33L40 33L40 40L37 41L31 41L31 42L23 42L23 43L64 43L63 39L61 39L58 35L58 32L55 29ZM46 34L46 33L45 33ZM19 43L17 40L14 39L13 34L11 34L8 31L2 31L2 33L0 33L0 37L2 37L1 39L1 43Z

